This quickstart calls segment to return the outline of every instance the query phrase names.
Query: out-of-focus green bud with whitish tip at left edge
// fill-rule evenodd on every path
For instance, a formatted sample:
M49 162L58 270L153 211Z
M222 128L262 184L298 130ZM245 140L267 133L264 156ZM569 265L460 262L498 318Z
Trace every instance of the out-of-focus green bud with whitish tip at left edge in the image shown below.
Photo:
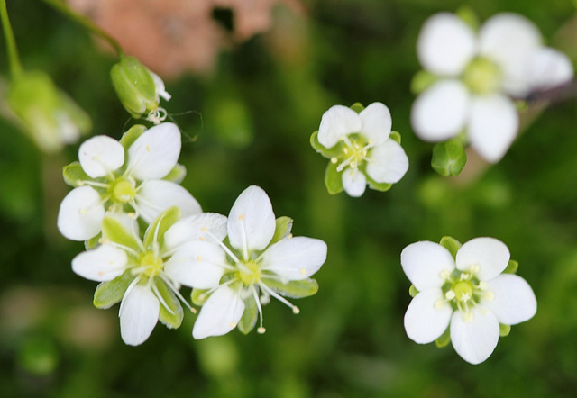
M6 102L24 132L47 153L60 151L92 128L90 117L41 72L14 78Z

